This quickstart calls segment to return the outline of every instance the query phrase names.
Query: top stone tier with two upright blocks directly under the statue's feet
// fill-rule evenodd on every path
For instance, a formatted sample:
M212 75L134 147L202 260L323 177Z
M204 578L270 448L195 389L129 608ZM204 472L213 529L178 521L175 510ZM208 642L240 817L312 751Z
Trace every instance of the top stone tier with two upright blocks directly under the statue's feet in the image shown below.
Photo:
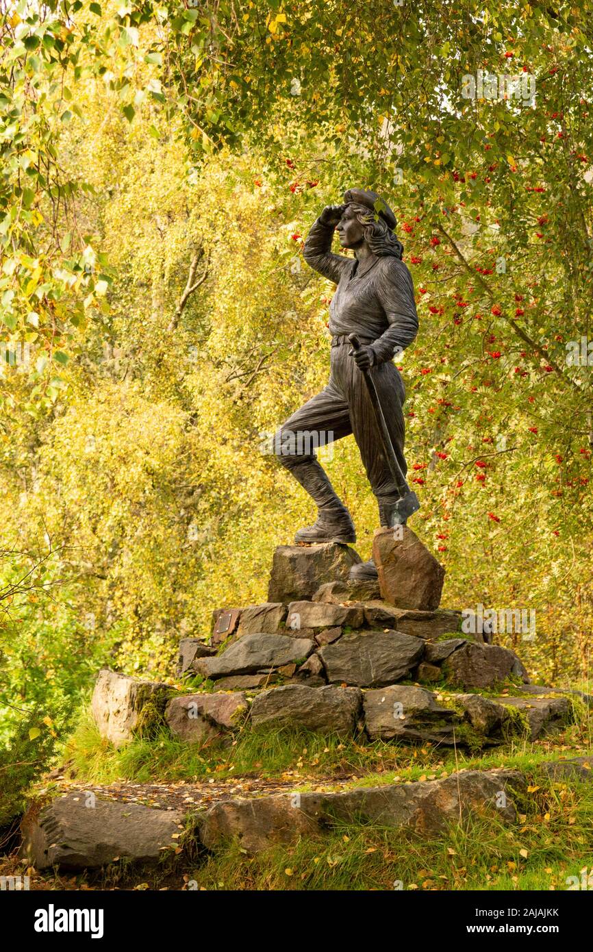
M253 634L295 634L311 638L325 629L388 628L426 640L455 635L462 612L440 609L444 569L406 526L375 533L376 582L352 582L358 553L348 545L280 545L274 551L268 602L218 608L212 614L210 646ZM479 633L474 641L491 642ZM188 641L188 640L187 640ZM190 655L190 645L186 654ZM206 654L202 652L202 656ZM184 661L196 669L200 655Z

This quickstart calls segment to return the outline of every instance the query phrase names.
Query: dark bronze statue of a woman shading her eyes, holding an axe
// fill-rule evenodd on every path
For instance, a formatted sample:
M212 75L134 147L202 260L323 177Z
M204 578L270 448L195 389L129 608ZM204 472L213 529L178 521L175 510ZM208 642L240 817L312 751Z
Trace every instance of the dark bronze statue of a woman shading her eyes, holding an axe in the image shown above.
M374 191L349 188L344 204L324 208L306 237L306 263L338 287L329 307L329 382L288 418L276 441L276 446L283 447L278 452L280 462L317 504L316 522L299 529L297 543L356 542L346 506L311 451L310 442L305 445L298 439L299 433L306 433L309 439L317 434L318 440L313 441L317 446L352 433L377 497L380 525L400 522L394 519L394 504L401 492L385 459L364 376L364 371L370 369L390 442L405 476L405 387L392 361L414 340L418 316L411 275L402 261L403 247L395 234L396 224L395 215ZM342 248L354 250L354 259L332 253L334 230ZM361 342L356 350L348 341L350 334L356 334ZM290 442L292 435L297 439ZM351 570L351 578L376 576L372 560Z

